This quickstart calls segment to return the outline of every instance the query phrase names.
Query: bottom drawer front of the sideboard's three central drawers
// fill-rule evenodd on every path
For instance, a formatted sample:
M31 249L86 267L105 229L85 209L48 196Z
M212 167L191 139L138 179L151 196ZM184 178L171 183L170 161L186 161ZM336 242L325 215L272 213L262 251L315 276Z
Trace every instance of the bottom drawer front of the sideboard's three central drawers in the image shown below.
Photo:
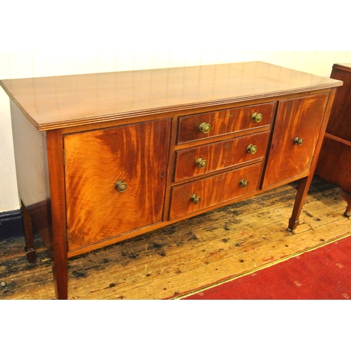
M196 213L256 191L261 166L262 163L254 164L173 187L169 219Z

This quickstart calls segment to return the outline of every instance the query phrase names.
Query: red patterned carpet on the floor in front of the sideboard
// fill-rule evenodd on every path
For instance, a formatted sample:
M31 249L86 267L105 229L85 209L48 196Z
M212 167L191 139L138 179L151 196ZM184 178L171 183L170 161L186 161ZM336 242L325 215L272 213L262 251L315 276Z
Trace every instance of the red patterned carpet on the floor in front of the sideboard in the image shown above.
M351 299L351 237L302 253L184 300Z

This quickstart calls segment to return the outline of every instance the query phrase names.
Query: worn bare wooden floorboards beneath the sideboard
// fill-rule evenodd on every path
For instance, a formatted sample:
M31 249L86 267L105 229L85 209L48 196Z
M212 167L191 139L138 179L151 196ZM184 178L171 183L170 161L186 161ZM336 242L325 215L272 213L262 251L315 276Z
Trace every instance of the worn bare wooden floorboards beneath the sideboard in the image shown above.
M351 234L340 189L314 178L300 225L286 230L296 184L69 259L70 299L179 298ZM48 252L36 238L0 242L0 299L53 299Z

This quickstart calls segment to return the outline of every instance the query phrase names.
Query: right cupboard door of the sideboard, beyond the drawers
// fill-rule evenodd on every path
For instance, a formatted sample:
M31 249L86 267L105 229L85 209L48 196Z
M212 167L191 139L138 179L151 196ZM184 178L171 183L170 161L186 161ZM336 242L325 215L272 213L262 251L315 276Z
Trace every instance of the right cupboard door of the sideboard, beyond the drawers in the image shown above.
M310 171L328 97L279 101L263 188Z

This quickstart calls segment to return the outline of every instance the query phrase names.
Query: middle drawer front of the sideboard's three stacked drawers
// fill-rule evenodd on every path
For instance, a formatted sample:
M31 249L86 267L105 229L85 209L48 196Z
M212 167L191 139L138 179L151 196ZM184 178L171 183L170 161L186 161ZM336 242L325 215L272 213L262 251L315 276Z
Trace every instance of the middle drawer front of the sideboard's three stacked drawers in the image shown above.
M174 181L200 176L265 157L270 132L176 152Z

